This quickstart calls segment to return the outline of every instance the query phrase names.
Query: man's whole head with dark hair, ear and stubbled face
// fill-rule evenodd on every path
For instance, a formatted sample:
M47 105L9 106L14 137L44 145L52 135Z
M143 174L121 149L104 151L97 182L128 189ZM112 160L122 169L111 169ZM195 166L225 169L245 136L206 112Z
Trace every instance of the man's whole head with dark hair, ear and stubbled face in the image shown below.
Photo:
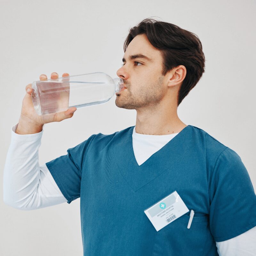
M126 89L116 94L116 106L154 108L165 101L178 107L201 78L204 61L195 34L171 23L142 20L124 42L124 64L116 74Z

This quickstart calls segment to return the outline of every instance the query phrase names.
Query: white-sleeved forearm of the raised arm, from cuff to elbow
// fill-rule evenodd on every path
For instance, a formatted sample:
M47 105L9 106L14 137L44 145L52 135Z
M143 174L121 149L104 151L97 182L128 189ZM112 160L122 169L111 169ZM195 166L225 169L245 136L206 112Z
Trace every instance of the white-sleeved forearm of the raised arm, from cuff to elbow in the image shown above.
M15 208L28 204L37 189L40 179L38 148L42 133L17 135L12 130L4 166L3 191L4 202Z

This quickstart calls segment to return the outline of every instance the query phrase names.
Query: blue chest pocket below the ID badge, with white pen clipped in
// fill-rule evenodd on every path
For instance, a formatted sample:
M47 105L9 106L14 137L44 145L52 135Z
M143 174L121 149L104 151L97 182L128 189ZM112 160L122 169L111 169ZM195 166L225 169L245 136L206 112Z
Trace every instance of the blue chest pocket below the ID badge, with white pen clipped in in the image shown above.
M190 228L187 228L189 217L188 212L156 232L152 256L216 255L207 254L209 250L205 250L209 239L212 243L208 215L194 216Z

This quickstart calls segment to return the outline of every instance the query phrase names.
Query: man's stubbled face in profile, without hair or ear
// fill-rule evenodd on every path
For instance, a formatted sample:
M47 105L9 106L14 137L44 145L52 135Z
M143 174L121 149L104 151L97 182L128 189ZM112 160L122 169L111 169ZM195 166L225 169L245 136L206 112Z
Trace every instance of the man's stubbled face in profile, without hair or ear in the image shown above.
M131 55L142 54L151 59ZM146 35L135 36L128 45L123 59L124 65L116 72L123 79L126 89L116 93L118 108L138 109L154 107L164 97L167 86L164 87L162 72L162 55L150 42Z

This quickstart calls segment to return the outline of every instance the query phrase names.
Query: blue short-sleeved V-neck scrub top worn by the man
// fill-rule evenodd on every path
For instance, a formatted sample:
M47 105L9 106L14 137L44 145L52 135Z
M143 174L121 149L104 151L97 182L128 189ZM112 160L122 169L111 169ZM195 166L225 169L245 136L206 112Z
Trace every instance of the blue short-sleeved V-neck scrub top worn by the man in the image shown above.
M84 255L218 255L216 242L256 226L256 196L237 153L186 126L138 165L134 126L93 134L48 163L70 204L80 197ZM144 210L177 191L189 212L156 231Z

